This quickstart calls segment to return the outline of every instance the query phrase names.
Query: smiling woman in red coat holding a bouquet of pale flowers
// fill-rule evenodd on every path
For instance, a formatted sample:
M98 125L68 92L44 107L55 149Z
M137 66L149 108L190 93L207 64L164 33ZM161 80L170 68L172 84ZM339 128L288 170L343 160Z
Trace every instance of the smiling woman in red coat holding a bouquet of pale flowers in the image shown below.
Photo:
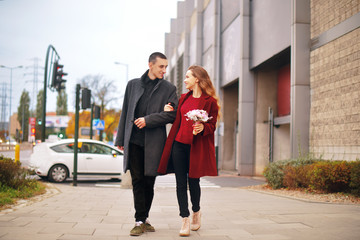
M189 236L187 185L189 184L193 210L191 230L196 231L201 226L200 177L217 176L214 132L220 105L215 88L204 68L190 66L184 83L189 92L182 94L179 100L176 119L166 140L158 172L175 172L176 194L182 217L180 236ZM185 114L195 109L205 110L210 119L194 124ZM166 105L165 110L172 108Z

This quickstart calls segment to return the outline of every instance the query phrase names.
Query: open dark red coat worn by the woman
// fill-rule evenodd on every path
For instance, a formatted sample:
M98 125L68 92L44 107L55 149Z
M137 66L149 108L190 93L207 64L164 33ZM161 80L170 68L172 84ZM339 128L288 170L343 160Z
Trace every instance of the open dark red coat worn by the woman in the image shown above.
M165 143L164 151L161 156L160 165L158 168L158 172L160 174L173 172L172 168L168 166L169 163L172 163L171 149L176 134L180 129L181 106L184 101L190 96L190 94L192 94L192 92L182 94L179 100L176 119L171 127L169 136ZM200 97L200 102L197 109L205 110L209 114L209 117L212 117L212 119L210 119L206 123L203 123L204 130L201 133L199 133L198 135L193 135L193 141L190 150L189 177L200 178L203 176L217 176L218 173L214 144L214 132L216 129L216 121L218 115L217 101L213 97L210 97L203 93Z

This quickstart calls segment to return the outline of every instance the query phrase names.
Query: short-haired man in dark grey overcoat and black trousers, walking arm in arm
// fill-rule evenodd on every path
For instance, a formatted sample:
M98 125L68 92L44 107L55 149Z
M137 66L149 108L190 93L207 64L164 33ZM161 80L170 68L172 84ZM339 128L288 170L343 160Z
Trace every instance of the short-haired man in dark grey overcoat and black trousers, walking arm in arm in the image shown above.
M166 124L176 117L176 87L163 79L168 61L162 53L149 57L149 70L141 78L128 82L115 146L124 151L124 172L130 170L135 226L131 236L154 232L149 211L154 197L154 184L166 141ZM164 111L171 104L174 111Z

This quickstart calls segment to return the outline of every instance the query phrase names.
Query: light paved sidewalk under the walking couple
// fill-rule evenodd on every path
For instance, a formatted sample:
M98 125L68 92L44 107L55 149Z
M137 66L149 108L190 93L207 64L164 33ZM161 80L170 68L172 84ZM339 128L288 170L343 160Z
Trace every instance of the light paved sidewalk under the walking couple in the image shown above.
M0 212L0 240L184 239L178 236L174 187L156 187L150 215L156 232L130 237L131 189L53 186L40 201ZM359 205L311 203L236 187L204 187L201 197L202 226L189 239L360 239Z

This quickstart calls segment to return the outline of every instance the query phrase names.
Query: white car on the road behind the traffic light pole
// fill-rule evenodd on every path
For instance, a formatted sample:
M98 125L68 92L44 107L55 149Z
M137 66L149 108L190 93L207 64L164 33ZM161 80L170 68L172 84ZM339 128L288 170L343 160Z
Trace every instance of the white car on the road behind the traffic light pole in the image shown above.
M30 156L30 166L38 176L52 182L73 177L74 139L37 144ZM122 151L100 141L78 140L78 176L120 178L122 172Z

